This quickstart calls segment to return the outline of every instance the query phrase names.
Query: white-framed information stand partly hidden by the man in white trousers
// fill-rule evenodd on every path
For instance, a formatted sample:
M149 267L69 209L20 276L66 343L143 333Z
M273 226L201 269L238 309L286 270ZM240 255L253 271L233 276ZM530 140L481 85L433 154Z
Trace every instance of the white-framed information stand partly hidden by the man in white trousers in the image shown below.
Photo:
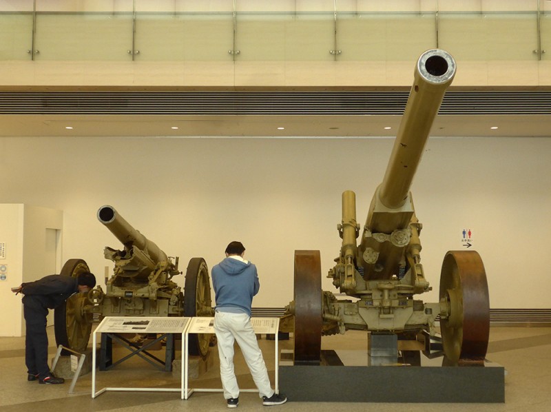
M251 318L251 324L255 333L268 333L275 335L275 393L279 393L279 349L278 349L278 330L280 327L280 318ZM202 318L196 317L191 318L189 322L189 327L185 331L185 363L182 365L182 371L184 370L185 365L185 395L184 398L187 400L189 395L194 392L223 392L223 389L209 389L209 388L188 388L188 376L187 376L187 367L189 361L189 353L187 351L187 343L189 340L189 333L214 333L214 318ZM258 389L240 389L241 392L258 392Z

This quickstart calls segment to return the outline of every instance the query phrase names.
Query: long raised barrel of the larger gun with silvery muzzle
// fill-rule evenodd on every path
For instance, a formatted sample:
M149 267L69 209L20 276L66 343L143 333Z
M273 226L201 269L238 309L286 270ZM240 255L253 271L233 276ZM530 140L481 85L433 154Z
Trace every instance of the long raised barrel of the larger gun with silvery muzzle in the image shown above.
M406 110L378 191L380 201L389 209L398 209L406 202L430 128L453 76L455 61L448 52L433 49L419 57Z

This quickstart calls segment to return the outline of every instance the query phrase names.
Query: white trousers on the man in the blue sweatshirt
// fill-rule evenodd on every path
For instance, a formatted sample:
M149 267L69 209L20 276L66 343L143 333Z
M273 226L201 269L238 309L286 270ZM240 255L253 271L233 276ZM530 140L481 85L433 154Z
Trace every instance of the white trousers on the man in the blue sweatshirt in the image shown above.
M214 331L218 340L218 356L220 356L220 379L224 389L224 398L238 398L239 387L236 373L233 371L233 342L237 341L241 353L247 362L254 383L258 388L260 398L271 398L273 389L270 386L268 371L262 351L258 347L251 318L247 313L229 313L216 311L214 315Z

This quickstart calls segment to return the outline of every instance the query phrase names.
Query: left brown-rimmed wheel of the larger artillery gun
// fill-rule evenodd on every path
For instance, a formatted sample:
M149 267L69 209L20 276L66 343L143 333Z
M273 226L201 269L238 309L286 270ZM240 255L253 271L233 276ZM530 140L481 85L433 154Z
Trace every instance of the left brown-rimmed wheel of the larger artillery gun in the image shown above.
M319 250L295 251L295 364L320 364L322 266Z

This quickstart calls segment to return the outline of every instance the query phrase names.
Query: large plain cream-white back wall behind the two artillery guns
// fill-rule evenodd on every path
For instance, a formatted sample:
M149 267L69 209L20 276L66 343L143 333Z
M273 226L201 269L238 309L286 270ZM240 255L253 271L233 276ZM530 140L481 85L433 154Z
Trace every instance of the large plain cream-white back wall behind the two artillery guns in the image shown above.
M293 299L293 251L320 249L322 285L340 249L341 193L364 223L393 144L382 138L0 138L1 202L64 212L63 260L103 278L103 247L121 247L96 218L113 205L169 256L209 267L231 240L258 265L255 307ZM471 229L492 308L546 308L551 139L430 138L413 185L422 262L436 302L441 260ZM183 285L184 278L175 280Z

